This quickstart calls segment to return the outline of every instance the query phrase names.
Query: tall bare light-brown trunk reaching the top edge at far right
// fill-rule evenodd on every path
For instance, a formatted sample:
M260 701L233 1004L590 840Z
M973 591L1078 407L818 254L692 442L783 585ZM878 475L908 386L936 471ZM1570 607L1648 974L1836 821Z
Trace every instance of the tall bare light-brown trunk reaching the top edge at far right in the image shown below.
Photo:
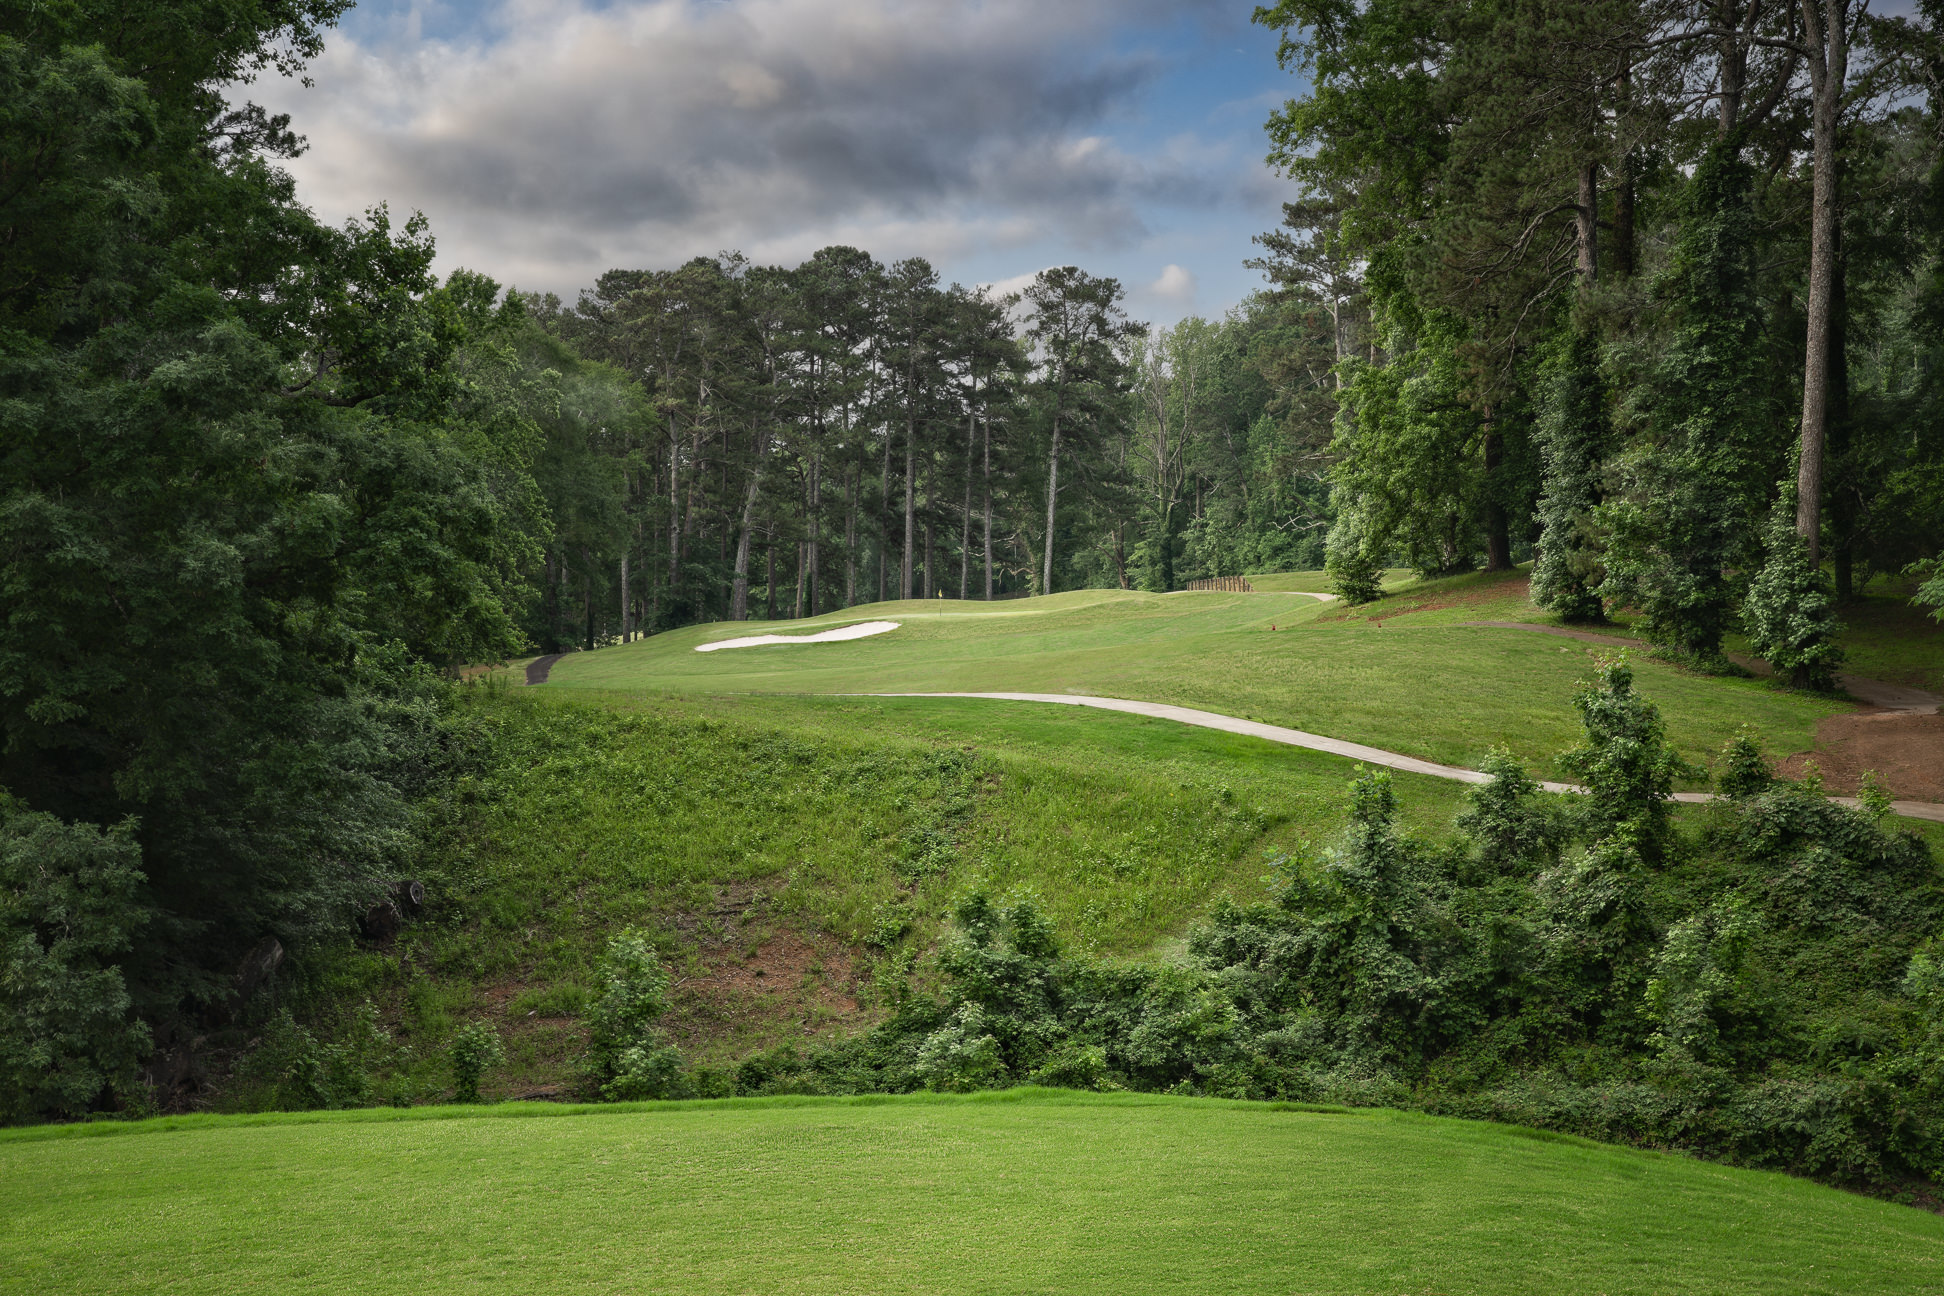
M1849 84L1847 0L1802 0L1808 37L1810 89L1814 99L1816 173L1810 198L1808 338L1802 365L1802 455L1796 468L1796 534L1822 562L1823 441L1829 431L1829 350L1835 317L1835 132Z

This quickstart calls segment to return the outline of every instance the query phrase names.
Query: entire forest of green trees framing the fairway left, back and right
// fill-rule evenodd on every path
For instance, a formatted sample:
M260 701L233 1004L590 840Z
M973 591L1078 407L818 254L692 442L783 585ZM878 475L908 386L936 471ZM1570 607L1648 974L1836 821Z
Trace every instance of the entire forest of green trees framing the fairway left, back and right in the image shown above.
M1170 326L850 247L439 276L241 99L346 8L0 12L0 1121L140 1109L391 905L482 760L467 666L1320 563L1532 562L1812 688L1872 583L1944 614L1928 4L1260 10L1295 198Z

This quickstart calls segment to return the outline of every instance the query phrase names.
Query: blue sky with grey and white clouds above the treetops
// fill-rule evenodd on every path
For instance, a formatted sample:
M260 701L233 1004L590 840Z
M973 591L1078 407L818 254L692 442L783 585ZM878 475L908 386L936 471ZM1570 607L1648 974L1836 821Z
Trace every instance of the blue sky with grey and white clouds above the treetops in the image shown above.
M424 210L441 270L572 297L612 266L828 243L947 280L1112 274L1217 313L1275 223L1295 84L1248 0L364 0L259 84L327 220Z

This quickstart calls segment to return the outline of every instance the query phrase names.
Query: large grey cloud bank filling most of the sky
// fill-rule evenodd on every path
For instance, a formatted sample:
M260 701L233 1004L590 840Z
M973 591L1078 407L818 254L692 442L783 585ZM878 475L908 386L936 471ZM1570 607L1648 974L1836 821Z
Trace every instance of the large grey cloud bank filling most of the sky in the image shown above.
M1116 39L1199 8L1217 6L527 2L478 45L340 41L315 89L280 97L311 138L294 171L321 210L424 208L449 255L533 286L836 239L1100 247L1137 237L1143 204L1244 183L1104 138L1157 74Z

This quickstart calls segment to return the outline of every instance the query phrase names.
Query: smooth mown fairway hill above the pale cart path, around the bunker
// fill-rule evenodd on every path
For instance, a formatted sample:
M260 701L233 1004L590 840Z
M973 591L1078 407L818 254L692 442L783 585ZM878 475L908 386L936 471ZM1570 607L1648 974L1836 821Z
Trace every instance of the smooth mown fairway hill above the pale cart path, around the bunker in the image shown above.
M1390 610L1409 606L1400 600ZM1509 620L1495 604L1444 620ZM1439 612L1417 614L1442 616ZM1371 622L1302 595L1075 591L1003 604L892 602L815 622L890 618L900 630L850 643L696 653L698 643L772 626L694 626L572 655L550 688L665 694L1081 692L1172 701L1411 756L1475 767L1507 746L1555 775L1579 738L1569 699L1590 645L1509 630ZM1275 626L1277 633L1269 633ZM1816 721L1843 709L1757 680L1718 680L1639 663L1674 742L1707 762L1742 725L1775 752L1806 750ZM993 703L1005 705L1005 703Z

